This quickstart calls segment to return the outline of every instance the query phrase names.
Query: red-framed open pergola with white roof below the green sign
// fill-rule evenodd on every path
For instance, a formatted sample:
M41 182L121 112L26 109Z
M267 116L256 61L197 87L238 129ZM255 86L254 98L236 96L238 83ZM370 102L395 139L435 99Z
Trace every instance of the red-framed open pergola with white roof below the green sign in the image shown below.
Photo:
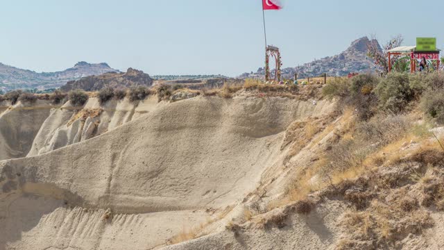
M396 47L388 51L388 72L391 72L391 57L392 56L409 56L410 57L410 72L416 72L416 60L420 60L424 57L426 60L436 60L439 69L439 52L436 51L416 51L416 46L402 46Z

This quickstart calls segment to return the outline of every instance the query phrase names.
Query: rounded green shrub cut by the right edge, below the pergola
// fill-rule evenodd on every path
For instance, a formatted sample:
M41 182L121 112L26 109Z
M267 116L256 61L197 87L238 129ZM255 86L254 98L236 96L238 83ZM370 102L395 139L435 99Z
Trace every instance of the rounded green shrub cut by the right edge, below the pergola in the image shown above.
M422 94L421 108L438 124L444 124L444 88L441 90L427 90Z

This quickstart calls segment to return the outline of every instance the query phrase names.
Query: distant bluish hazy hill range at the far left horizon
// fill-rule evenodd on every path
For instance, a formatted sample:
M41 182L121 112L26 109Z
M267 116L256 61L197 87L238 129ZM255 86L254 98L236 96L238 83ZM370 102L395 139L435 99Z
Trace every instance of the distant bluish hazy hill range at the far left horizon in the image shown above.
M74 67L61 72L37 73L27 69L19 69L0 63L0 90L7 92L14 89L34 89L44 90L48 88L58 88L67 83L85 76L99 75L106 72L119 72L112 69L106 63L86 63L79 62Z

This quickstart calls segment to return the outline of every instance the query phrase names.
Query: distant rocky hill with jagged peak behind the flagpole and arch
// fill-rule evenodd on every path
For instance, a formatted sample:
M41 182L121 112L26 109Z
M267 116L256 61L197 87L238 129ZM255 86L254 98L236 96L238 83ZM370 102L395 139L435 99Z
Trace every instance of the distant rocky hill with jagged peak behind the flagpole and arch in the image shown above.
M379 46L377 40L369 40L367 37L359 38L339 55L327 56L298 67L284 68L282 69L282 76L293 78L295 73L298 73L299 78L320 76L324 73L327 73L328 76L346 76L350 72L374 70L377 66L366 55L367 44L369 43L377 43ZM242 74L241 78L261 78L264 75L264 68L259 68L256 73Z

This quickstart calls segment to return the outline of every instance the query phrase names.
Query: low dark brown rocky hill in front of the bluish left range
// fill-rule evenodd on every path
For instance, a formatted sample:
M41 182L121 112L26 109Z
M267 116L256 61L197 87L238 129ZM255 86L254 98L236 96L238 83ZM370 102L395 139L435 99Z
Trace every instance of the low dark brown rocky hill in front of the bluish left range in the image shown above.
M138 85L151 86L153 79L141 70L129 68L126 73L105 73L99 76L87 76L76 81L69 81L62 90L82 89L86 91L100 90L104 87L129 88Z

